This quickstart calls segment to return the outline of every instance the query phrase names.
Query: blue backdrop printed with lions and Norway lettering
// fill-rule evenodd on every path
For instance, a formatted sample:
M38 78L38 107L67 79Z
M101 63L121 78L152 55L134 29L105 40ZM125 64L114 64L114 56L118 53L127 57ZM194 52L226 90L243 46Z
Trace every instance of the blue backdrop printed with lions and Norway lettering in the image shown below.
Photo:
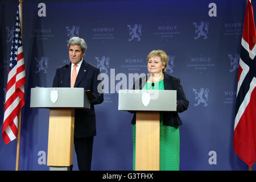
M17 7L18 0L0 2L1 121ZM181 78L189 100L188 110L180 114L180 170L247 170L233 151L245 9L246 0L24 1L26 105L19 169L49 168L49 110L30 108L30 89L52 86L56 68L69 63L67 40L80 36L88 44L84 59L115 85L118 73L127 78L129 73L147 73L146 56L153 49L166 51L167 73ZM105 91L104 102L95 107L92 170L132 170L133 115L118 111L117 90L109 86ZM73 158L77 170L75 152ZM16 140L5 144L0 139L0 170L14 170L15 159Z

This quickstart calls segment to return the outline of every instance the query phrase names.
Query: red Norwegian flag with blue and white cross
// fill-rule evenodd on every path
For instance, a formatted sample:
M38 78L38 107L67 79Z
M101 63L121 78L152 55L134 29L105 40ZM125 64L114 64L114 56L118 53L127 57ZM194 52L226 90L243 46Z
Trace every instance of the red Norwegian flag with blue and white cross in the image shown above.
M234 151L248 166L256 160L256 32L251 1L247 0L238 69Z

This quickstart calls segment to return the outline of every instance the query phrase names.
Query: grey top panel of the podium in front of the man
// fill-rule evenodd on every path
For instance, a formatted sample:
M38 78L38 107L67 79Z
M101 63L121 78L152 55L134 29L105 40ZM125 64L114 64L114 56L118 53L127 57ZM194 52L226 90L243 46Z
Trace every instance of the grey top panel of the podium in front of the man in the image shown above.
M90 109L84 88L31 88L30 107Z

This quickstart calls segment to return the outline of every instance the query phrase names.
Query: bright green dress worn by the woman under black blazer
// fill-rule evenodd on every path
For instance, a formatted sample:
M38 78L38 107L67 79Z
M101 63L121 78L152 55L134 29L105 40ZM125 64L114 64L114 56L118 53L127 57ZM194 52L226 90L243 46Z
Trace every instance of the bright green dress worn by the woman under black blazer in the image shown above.
M155 82L155 86L146 82L142 90L164 90L163 80ZM135 171L135 137L136 125L133 125L133 170ZM160 113L160 171L179 171L180 166L180 130L179 127L163 125L163 114Z

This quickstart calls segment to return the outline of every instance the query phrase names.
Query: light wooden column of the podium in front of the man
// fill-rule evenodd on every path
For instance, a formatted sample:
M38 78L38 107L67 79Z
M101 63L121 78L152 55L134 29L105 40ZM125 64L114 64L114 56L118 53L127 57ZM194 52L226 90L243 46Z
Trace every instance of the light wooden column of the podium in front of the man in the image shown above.
M75 109L50 109L47 166L71 166Z

